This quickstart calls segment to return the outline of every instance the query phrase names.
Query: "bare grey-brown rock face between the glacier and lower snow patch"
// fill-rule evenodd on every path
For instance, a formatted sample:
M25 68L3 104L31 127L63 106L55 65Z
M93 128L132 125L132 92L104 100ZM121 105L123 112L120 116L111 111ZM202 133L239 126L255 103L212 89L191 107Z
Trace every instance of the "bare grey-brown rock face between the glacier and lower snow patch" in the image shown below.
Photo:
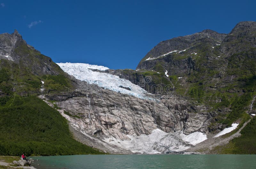
M52 96L46 97L57 100ZM159 102L154 102L104 89L92 90L90 93L82 91L79 96L65 96L63 99L56 97L60 101L54 104L74 128L76 138L84 137L79 139L83 142L86 137L91 140L91 143L86 144L106 152L124 153L113 147L106 148L110 145L104 142L105 138L130 140L127 135L148 135L156 128L167 133L205 133L209 125L206 108L203 105L192 106L181 97L165 95L157 98Z

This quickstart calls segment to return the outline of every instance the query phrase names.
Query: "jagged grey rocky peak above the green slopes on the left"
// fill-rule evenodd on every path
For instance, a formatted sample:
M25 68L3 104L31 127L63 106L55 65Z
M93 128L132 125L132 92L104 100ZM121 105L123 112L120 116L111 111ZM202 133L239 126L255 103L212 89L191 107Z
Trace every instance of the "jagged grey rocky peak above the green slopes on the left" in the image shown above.
M12 34L0 34L0 59L28 67L36 75L63 73L51 58L28 45L16 29Z

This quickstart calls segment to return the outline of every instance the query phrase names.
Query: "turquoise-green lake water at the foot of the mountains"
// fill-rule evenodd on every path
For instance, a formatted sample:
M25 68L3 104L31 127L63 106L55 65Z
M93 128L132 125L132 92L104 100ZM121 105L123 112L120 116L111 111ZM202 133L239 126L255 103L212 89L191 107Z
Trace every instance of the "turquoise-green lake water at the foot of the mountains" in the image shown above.
M32 158L35 160L33 166L37 169L256 168L256 155L75 155Z

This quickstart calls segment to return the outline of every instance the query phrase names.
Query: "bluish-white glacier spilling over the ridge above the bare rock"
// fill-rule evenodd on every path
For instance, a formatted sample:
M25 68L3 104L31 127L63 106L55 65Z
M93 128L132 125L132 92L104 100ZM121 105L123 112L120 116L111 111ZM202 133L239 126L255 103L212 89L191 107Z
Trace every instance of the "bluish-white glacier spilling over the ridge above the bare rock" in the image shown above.
M97 84L102 88L106 88L109 90L113 90L116 92L128 94L131 96L135 96L141 99L152 99L148 96L145 96L147 93L146 90L140 88L138 85L133 84L132 82L121 79L116 75L108 74L108 73L100 73L93 72L91 69L98 70L107 70L107 67L98 66L98 65L89 65L84 63L57 63L60 68L70 74L73 75L76 79L81 81L86 81L89 84ZM124 88L120 88L119 86L123 86L126 88L130 88L131 90L126 90Z

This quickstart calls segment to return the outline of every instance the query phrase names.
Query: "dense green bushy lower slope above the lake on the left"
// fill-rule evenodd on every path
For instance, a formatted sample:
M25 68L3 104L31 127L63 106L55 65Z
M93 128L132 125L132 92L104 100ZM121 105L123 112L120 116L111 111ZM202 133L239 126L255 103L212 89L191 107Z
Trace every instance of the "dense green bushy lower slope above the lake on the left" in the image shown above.
M75 141L68 123L41 99L14 95L0 108L1 155L71 155L100 152Z

